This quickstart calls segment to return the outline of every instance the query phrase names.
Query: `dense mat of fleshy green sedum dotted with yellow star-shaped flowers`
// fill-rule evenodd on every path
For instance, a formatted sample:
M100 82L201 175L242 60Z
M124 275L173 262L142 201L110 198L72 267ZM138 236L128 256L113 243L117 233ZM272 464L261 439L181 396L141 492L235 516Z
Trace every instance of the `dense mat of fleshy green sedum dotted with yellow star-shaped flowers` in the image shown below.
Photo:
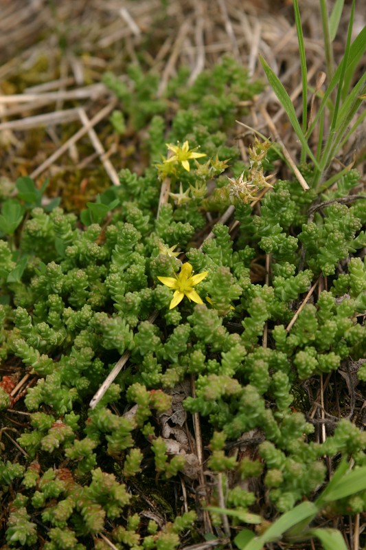
M253 550L286 533L325 549L334 536L341 549L317 515L325 505L365 511L365 434L334 420L320 441L307 405L319 378L339 383L339 369L366 349L366 195L350 195L359 175L345 171L323 196L319 166L304 165L314 182L304 194L297 181L275 181L279 151L268 140L239 161L225 132L260 85L229 58L189 89L181 70L162 98L151 75L130 67L128 76L137 94L105 76L121 102L111 131L146 130L144 173L121 170L120 185L79 216L43 208L45 189L30 179L3 203L0 358L32 380L19 401L9 381L0 386L1 408L29 418L16 436L23 456L0 463L6 543L171 550L188 533L201 541L193 489L186 509L172 494L179 480L196 489L207 474L198 512L209 505L218 543L225 532ZM179 109L168 126L171 98ZM203 441L196 433L194 442L197 419ZM246 443L251 452L233 451ZM328 483L332 461L341 465Z

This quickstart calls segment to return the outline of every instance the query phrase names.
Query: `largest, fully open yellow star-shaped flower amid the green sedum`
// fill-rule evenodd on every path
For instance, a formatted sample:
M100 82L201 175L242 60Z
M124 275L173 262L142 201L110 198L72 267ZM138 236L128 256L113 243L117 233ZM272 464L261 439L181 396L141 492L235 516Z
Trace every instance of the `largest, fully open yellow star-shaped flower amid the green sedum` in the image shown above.
M173 299L170 302L169 309L173 309L187 296L188 300L193 300L196 304L203 304L201 297L194 290L194 285L201 283L208 275L208 271L192 275L192 265L189 262L183 263L181 272L174 277L158 277L163 285L175 290Z

